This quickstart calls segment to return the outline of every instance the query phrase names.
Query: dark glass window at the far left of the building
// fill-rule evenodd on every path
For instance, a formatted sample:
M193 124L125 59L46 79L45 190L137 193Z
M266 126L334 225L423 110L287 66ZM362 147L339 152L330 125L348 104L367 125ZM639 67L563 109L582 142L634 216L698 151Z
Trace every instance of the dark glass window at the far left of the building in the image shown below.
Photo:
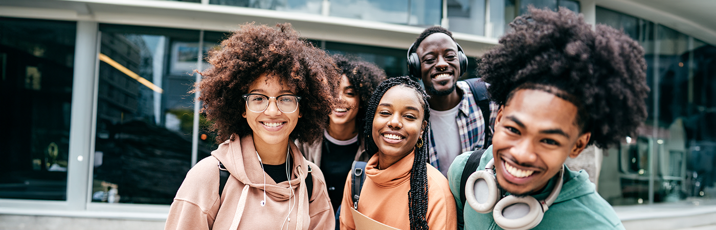
M76 28L0 17L0 198L66 199Z

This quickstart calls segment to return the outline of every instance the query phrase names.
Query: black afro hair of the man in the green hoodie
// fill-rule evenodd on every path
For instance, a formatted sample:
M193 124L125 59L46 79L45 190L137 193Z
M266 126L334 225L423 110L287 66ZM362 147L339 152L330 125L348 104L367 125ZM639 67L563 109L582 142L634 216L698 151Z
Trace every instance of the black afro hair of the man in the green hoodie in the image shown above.
M577 125L589 144L608 148L634 134L647 118L644 49L624 32L586 24L566 8L534 9L485 54L478 72L498 105L513 92L550 92L578 107Z

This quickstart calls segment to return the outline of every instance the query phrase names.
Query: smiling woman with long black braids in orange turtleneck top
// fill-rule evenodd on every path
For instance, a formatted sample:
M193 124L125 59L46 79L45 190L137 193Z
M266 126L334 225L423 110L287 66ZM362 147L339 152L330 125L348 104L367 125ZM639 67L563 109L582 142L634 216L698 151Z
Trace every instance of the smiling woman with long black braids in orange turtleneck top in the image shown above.
M410 77L382 82L368 102L365 168L357 211L397 229L455 229L455 200L448 180L427 163L430 125L427 95ZM343 193L341 229L356 229L351 176Z

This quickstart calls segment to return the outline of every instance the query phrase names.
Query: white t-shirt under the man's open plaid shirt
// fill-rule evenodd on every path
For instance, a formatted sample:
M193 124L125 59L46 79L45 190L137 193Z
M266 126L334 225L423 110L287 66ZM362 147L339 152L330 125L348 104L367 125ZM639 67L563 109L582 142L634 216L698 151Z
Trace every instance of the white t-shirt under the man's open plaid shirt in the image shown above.
M450 110L430 109L430 130L432 130L432 137L435 140L435 153L437 153L440 163L440 173L445 176L448 176L450 164L463 150L456 120L459 108L460 103Z

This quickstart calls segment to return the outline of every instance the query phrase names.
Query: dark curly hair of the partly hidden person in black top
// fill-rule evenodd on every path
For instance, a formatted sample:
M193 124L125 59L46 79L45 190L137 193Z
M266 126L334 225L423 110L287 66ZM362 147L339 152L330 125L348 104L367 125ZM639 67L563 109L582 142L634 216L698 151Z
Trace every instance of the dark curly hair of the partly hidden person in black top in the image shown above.
M346 75L348 82L351 83L354 90L358 92L360 98L360 107L358 109L358 116L356 122L356 128L358 133L362 133L363 125L365 123L365 109L368 107L368 101L370 95L373 94L380 82L383 82L387 77L385 71L378 67L372 62L365 62L359 57L346 56L343 54L333 54L331 56L335 61L336 65L341 71L342 75Z

